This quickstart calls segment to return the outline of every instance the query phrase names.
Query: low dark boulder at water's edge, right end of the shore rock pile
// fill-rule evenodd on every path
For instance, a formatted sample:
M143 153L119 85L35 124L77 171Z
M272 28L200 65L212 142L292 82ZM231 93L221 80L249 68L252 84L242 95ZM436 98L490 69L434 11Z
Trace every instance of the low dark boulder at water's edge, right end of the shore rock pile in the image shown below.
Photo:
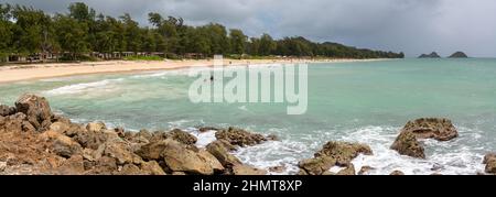
M242 129L233 127L227 130L217 131L215 133L215 138L217 138L217 140L225 140L233 145L239 146L256 145L263 141L267 141L267 139L261 134L250 133Z

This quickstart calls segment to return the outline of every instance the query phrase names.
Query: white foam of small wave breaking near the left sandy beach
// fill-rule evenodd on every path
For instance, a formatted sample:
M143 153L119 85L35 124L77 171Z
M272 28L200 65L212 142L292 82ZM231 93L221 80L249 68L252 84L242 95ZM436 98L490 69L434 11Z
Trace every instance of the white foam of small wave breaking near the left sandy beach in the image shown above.
M95 89L101 90L106 86L108 86L112 83L118 83L118 81L122 81L122 80L123 80L123 78L118 78L118 79L105 79L105 80L99 80L99 81L94 81L94 83L82 83L82 84L67 85L67 86L63 86L60 88L44 91L44 94L56 96L56 95L82 94L82 92L86 92L86 91L95 90Z

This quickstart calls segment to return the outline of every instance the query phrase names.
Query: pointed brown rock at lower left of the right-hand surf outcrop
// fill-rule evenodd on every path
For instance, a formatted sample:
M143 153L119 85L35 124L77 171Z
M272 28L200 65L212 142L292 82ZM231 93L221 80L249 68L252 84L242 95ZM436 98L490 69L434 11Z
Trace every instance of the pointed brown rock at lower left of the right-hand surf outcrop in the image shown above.
M391 150L398 151L401 155L425 158L423 146L417 141L417 136L409 131L402 131L398 135L395 143L391 145Z

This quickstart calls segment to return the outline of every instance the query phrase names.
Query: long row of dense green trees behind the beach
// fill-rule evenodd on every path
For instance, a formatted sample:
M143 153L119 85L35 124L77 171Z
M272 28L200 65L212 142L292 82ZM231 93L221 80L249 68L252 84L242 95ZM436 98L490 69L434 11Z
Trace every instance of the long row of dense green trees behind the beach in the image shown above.
M131 15L96 13L84 3L72 3L67 13L47 14L24 6L0 4L0 58L8 55L61 54L80 59L90 52L159 52L169 58L185 54L212 56L306 56L337 58L398 58L403 54L315 43L304 37L274 40L268 34L248 37L241 30L211 23L184 24L183 19L149 13L150 25L141 26Z

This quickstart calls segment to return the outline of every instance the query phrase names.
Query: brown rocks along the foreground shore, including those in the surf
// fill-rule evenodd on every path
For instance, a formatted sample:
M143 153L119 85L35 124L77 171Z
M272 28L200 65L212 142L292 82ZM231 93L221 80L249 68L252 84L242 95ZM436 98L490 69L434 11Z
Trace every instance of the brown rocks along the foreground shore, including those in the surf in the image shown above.
M198 130L215 131L216 141L197 147L196 136L179 129L131 132L109 129L104 122L78 124L54 114L45 98L26 94L15 107L0 106L0 175L266 175L285 168L259 169L231 154L242 146L277 140L274 135L233 127ZM457 136L448 119L418 119L405 125L390 149L425 158L418 140L450 141ZM367 174L374 166L356 172L352 164L359 154L374 152L367 144L327 142L313 158L298 163L298 175ZM496 154L487 154L482 163L486 174L496 174ZM332 173L335 166L342 169Z

